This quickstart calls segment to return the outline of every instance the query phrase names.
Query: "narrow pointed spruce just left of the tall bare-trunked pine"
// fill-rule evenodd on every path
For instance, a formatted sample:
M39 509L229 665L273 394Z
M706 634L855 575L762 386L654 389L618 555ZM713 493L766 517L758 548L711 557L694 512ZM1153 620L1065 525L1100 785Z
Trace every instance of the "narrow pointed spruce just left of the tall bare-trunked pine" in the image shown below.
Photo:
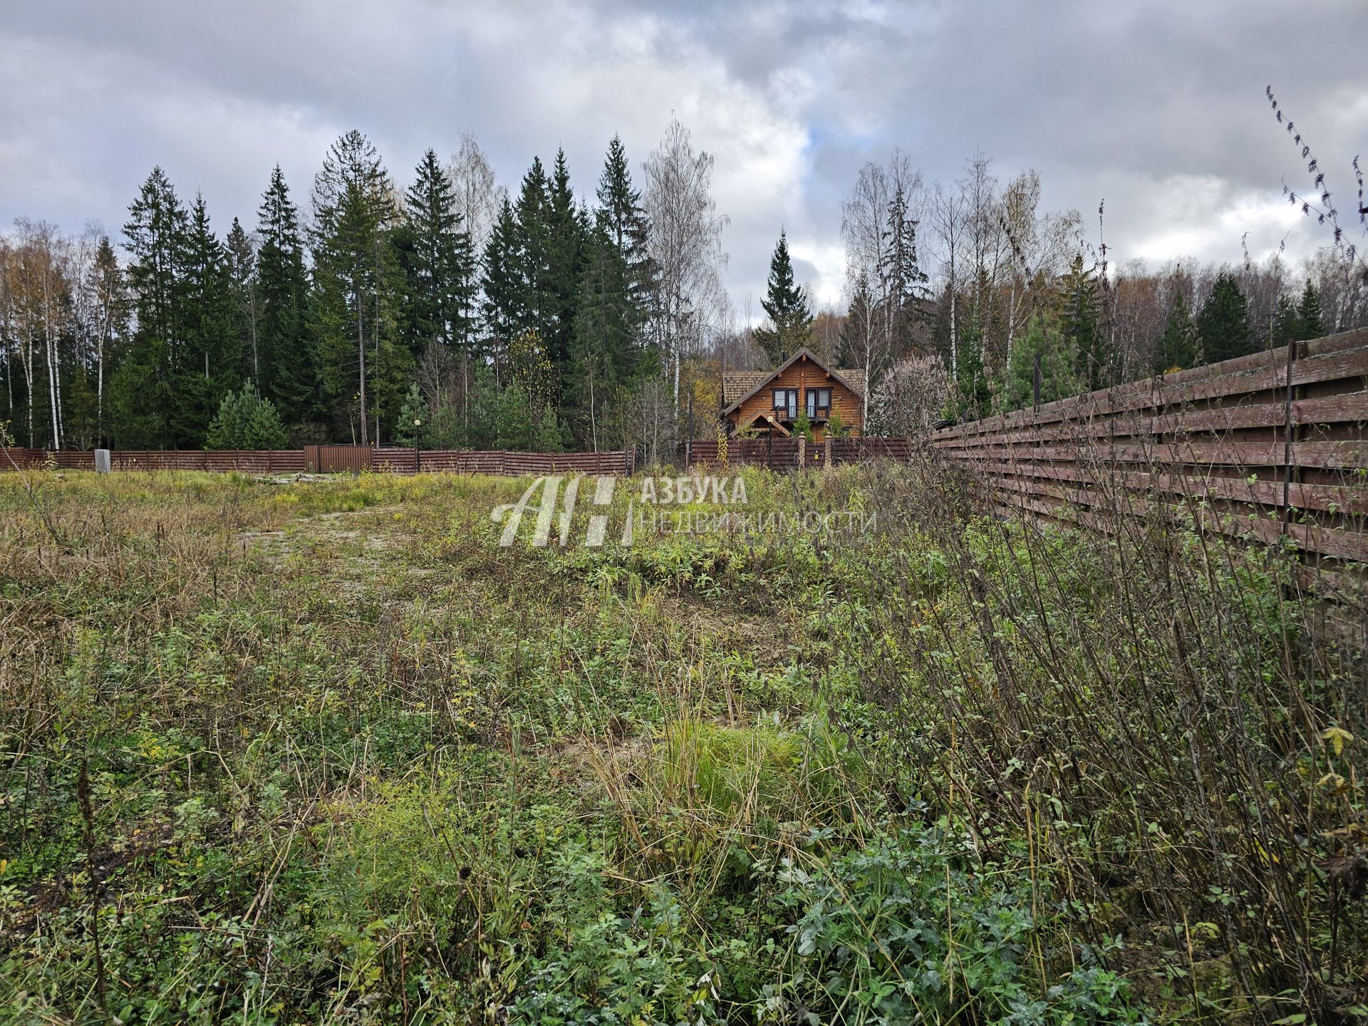
M286 423L301 424L315 416L316 372L300 215L279 164L257 209L257 389Z

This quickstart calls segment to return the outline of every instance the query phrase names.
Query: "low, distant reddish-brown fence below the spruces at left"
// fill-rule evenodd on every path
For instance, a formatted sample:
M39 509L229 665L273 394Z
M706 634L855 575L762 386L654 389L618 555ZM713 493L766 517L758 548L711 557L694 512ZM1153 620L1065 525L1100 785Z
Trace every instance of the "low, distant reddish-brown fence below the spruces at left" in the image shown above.
M62 471L93 471L94 453L44 449L10 449L21 469L56 466ZM631 475L636 469L635 450L609 453L513 453L503 450L432 449L416 454L412 449L369 446L305 446L304 449L238 451L200 449L115 450L109 454L115 471L218 471L242 473L491 473L506 476L550 473ZM0 457L0 471L12 471Z

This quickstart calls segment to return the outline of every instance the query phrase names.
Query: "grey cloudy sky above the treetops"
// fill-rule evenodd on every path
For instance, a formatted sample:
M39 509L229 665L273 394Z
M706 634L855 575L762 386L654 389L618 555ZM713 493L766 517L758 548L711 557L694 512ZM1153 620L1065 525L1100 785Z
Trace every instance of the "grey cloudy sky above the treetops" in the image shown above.
M893 146L928 179L975 148L1004 181L1034 167L1090 226L1105 198L1118 263L1237 261L1245 233L1300 257L1321 234L1282 198L1305 175L1264 86L1347 212L1365 40L1363 0L0 0L0 224L116 230L161 164L250 226L274 163L302 201L350 127L404 182L469 130L505 185L564 146L591 190L614 133L639 174L674 114L717 157L752 316L781 226L839 301L841 198Z

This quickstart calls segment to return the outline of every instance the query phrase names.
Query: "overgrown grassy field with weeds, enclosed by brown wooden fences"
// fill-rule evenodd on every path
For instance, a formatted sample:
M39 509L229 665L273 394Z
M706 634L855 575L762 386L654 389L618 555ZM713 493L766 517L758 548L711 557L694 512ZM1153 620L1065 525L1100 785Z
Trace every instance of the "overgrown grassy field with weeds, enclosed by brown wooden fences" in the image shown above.
M4 1022L1368 1018L1368 695L1280 554L932 462L601 549L590 483L564 549L517 480L27 484Z

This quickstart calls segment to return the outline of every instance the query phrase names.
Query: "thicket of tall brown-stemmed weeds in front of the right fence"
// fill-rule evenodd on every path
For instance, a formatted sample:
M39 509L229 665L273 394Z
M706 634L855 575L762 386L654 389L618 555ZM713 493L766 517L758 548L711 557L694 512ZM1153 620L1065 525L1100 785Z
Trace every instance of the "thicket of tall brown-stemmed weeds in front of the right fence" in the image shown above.
M1025 837L1186 1018L1358 1015L1364 674L1287 554L1120 488L1088 532L974 516L930 457L891 488L937 554L873 581L845 651L904 792L988 858Z

